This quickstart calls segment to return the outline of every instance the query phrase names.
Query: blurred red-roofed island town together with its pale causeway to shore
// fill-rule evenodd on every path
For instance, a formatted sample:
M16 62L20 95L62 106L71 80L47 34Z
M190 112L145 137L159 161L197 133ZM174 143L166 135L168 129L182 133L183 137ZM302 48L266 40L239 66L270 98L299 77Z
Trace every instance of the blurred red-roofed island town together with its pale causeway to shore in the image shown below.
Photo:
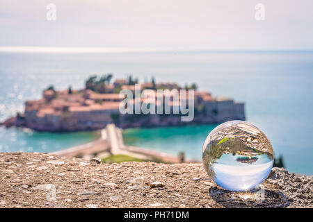
M83 130L99 130L101 137L88 144L66 148L56 151L55 154L63 157L83 157L84 159L122 158L122 161L140 160L154 162L198 162L184 157L184 152L177 156L168 153L152 151L150 148L127 146L122 138L124 128L152 128L167 126L186 126L222 123L234 119L244 120L244 103L235 102L230 98L214 97L209 92L198 91L197 85L179 86L177 83L156 83L154 78L150 82L138 83L138 79L128 76L125 79L115 79L112 74L101 77L90 76L83 89L56 90L53 85L42 92L42 99L26 101L24 113L17 113L2 123L3 126L16 126L37 131L47 132L74 132ZM125 100L121 96L122 90L134 92L136 87L150 92L168 90L167 100L170 111L181 107L181 103L191 105L193 103L192 121L182 121L184 114L170 113L148 113L143 114L120 112L120 105ZM193 98L184 98L178 94L174 98L172 92L192 90ZM183 90L183 91L184 91ZM187 94L190 96L190 94ZM187 97L188 97L187 96ZM150 105L159 102L159 98L149 98ZM163 98L166 101L165 98ZM185 101L183 101L185 100ZM139 102L145 103L145 99ZM128 104L135 104L136 98L130 99ZM135 104L136 105L136 104ZM135 106L131 109L135 109ZM111 159L110 159L111 161Z

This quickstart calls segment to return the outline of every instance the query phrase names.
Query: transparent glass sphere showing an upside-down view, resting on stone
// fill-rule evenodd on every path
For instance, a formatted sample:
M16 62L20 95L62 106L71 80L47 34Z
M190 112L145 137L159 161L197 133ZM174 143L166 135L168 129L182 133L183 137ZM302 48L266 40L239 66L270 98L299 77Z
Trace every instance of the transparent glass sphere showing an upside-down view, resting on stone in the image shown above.
M246 191L262 183L274 162L271 142L246 121L227 121L211 131L202 148L202 162L217 185Z

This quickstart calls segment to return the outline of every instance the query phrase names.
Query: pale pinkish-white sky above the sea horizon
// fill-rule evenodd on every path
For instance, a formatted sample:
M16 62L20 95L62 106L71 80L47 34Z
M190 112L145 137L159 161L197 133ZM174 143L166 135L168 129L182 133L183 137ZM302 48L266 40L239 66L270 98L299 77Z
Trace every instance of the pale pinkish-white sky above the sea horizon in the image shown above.
M0 33L0 46L312 50L313 1L0 0Z

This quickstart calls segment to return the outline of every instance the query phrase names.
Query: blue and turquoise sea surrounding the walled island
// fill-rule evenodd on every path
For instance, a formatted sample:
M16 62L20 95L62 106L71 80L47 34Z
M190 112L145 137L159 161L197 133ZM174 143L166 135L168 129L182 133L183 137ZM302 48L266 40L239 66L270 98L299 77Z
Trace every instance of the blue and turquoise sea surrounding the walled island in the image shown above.
M134 74L142 81L154 76L157 81L181 85L195 82L214 96L244 101L247 120L266 133L275 155L283 155L287 169L313 174L312 52L0 53L0 121L22 111L24 101L40 98L47 85L80 88L91 74L108 72L118 78ZM212 128L126 130L125 135L128 144L174 154L185 151L187 157L200 160L202 144ZM0 146L6 151L55 151L93 139L90 133L73 137L48 133L41 140L27 135L17 129L1 129ZM30 145L22 146L22 141ZM45 150L42 141L48 144Z

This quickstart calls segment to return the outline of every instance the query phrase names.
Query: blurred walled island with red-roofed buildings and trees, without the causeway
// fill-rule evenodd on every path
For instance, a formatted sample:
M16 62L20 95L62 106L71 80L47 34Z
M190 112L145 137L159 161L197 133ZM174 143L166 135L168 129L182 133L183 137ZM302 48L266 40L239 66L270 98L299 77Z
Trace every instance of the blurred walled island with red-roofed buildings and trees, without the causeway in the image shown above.
M100 78L90 76L83 89L56 90L47 87L42 99L26 101L24 113L7 119L4 126L18 126L38 131L72 132L81 130L100 130L114 123L118 128L150 128L161 126L185 126L223 123L230 120L245 120L244 103L238 103L226 97L214 97L209 92L198 91L196 84L179 86L177 83L141 83L141 89L157 92L159 89L193 89L194 118L192 121L181 121L182 114L121 114L120 103L123 97L120 92L129 89L134 92L138 79L129 76L126 79L115 79L113 74ZM154 101L157 103L157 101ZM179 105L179 101L170 101L170 107Z

